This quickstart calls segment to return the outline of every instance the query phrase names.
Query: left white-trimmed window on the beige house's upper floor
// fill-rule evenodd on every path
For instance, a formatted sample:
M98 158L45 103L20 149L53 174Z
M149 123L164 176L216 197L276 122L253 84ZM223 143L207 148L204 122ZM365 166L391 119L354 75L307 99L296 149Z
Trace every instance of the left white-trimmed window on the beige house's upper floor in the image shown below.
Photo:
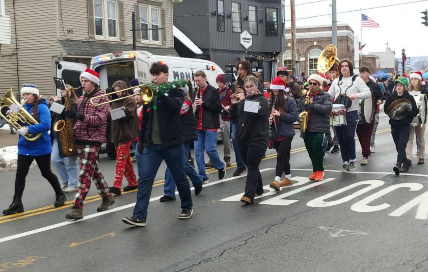
M116 0L94 0L95 37L116 40L117 16Z

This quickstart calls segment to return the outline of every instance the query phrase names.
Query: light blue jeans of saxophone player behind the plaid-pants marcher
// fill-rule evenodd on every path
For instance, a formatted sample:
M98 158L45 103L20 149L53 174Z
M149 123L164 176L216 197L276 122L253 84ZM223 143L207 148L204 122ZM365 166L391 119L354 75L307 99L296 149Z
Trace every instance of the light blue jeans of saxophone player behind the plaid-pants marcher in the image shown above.
M77 156L73 157L60 157L60 150L58 148L58 139L53 139L52 155L50 162L57 170L63 183L68 183L69 187L79 186L79 165L77 163Z

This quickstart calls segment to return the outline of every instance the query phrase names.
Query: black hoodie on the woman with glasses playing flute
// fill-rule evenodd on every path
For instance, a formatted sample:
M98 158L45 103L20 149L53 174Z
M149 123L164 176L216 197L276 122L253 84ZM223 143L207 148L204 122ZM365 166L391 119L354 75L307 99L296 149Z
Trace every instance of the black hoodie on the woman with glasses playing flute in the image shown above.
M246 100L260 102L257 113L244 112ZM268 148L269 141L269 106L263 94L255 94L243 101L232 104L229 110L231 119L236 120L235 137L238 143Z

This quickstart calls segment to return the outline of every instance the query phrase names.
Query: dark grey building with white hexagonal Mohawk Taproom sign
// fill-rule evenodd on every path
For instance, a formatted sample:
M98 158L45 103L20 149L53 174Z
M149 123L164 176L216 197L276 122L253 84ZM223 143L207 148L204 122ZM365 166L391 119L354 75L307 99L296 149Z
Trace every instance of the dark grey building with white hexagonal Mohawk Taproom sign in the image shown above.
M181 57L211 60L225 72L245 58L253 71L271 78L285 47L281 0L185 0L174 4L174 25L201 50L176 38Z

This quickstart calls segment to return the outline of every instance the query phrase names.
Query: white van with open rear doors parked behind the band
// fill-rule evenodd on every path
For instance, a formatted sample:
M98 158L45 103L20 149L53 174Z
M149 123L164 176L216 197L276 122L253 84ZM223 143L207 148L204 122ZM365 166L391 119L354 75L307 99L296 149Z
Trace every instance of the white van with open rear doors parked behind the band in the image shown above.
M193 85L193 73L202 70L206 73L208 83L217 88L216 77L224 73L215 63L179 57L153 55L147 51L123 51L106 53L92 58L91 69L100 74L100 88L111 87L116 80L123 80L127 85L132 78L138 78L140 84L151 83L150 66L154 62L163 61L169 67L169 81L189 78ZM73 87L80 86L79 74L86 65L57 61L57 77L63 78Z

